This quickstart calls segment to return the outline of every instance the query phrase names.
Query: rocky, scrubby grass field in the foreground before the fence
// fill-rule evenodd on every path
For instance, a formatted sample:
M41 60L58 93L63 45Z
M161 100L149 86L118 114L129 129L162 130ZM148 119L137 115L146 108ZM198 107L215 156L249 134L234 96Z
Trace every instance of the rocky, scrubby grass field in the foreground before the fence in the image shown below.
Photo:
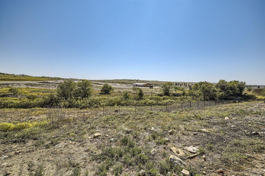
M137 175L141 169L151 176L179 175L182 168L171 166L170 155L194 175L265 173L261 101L104 117L101 111L1 109L1 174L29 175L43 168L43 175ZM102 135L93 138L94 133ZM193 154L185 150L189 146L200 154L187 158Z

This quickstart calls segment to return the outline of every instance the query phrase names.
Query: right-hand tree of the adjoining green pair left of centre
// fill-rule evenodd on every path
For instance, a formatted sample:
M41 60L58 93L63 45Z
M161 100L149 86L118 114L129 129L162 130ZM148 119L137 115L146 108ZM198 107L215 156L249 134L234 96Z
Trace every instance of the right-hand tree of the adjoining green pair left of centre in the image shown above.
M86 79L82 79L77 83L77 87L75 90L75 97L76 98L87 98L93 94L94 90L92 87L92 82Z

